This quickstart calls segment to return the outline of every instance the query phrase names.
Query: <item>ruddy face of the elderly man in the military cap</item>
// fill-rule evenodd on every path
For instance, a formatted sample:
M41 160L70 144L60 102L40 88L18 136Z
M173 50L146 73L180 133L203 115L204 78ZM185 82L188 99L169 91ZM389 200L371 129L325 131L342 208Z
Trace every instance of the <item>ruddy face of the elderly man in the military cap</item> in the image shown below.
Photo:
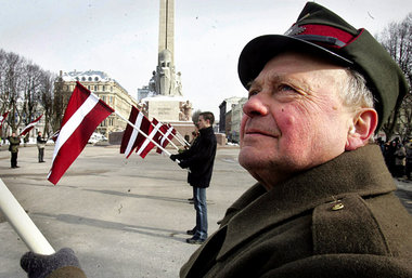
M337 95L346 76L304 54L268 62L243 108L241 166L271 188L344 153L353 117Z

